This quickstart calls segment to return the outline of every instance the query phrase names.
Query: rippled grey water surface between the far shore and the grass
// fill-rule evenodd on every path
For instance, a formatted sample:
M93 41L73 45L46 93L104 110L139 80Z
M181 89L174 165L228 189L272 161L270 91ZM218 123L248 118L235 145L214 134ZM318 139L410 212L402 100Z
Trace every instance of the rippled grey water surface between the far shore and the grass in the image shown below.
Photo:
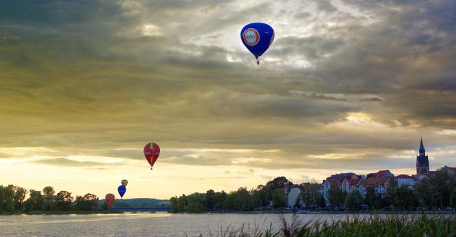
M287 220L292 214L285 214ZM346 214L299 214L302 221ZM69 214L0 216L0 236L209 236L244 223L244 230L279 230L281 214Z

